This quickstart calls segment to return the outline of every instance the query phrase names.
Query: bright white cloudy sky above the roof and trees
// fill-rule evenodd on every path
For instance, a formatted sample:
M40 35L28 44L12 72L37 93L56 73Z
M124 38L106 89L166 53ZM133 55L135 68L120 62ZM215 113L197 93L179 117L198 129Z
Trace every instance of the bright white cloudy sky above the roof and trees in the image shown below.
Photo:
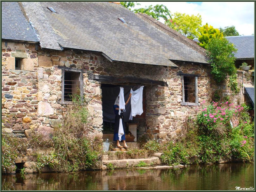
M200 14L202 25L214 28L235 26L240 35L254 34L254 2L137 2L135 9L163 4L171 13ZM159 20L164 23L164 19Z

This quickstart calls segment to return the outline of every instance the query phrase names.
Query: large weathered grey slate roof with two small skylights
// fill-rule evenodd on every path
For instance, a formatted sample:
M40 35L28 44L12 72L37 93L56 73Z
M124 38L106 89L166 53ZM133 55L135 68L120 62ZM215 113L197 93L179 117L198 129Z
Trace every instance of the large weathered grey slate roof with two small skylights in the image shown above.
M116 3L22 2L22 5L43 48L91 50L102 52L113 61L142 64L177 66L169 59L208 63L197 51ZM53 7L57 13L47 7Z

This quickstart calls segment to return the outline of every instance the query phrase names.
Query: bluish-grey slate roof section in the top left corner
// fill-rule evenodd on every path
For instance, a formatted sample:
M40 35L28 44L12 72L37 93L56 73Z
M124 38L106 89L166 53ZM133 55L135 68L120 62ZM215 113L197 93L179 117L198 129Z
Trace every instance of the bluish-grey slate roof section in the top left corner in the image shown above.
M2 39L39 42L18 2L2 3Z

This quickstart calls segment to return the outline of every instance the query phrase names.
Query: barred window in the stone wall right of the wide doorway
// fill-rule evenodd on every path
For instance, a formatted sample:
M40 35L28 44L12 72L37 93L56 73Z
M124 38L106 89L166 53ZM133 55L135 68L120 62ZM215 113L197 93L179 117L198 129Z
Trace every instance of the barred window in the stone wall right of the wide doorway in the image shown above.
M182 105L200 106L198 103L198 76L183 74L182 84Z

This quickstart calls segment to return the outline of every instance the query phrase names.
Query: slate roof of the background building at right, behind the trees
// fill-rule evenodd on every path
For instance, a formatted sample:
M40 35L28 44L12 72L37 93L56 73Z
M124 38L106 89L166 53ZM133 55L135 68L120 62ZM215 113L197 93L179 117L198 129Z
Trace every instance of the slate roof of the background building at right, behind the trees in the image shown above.
M237 49L235 57L237 59L254 58L254 36L228 36L225 38L235 45ZM198 38L193 40L199 42Z

